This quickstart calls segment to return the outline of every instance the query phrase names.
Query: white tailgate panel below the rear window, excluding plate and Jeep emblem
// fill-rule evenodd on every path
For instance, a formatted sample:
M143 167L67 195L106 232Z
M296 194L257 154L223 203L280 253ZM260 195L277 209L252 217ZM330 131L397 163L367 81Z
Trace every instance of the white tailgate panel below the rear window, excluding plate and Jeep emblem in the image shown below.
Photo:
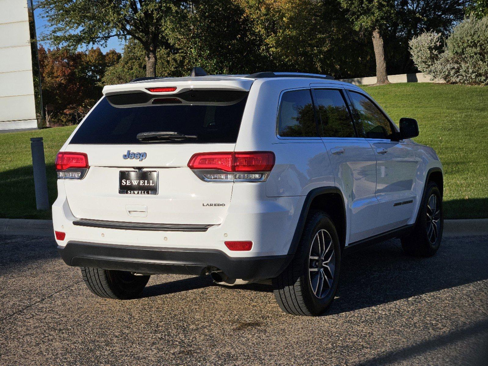
M69 207L82 219L160 224L220 224L233 183L200 180L187 163L196 152L233 151L235 144L68 145L86 153L90 168L81 180L64 180ZM123 159L131 152L146 158ZM120 172L158 172L157 194L120 194ZM145 211L145 212L144 212Z

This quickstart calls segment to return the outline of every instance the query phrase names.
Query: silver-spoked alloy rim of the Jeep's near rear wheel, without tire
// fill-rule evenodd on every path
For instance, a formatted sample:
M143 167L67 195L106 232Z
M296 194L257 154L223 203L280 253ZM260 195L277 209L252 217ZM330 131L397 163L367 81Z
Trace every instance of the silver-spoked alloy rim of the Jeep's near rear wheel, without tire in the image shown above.
M308 259L308 280L317 298L323 299L330 291L334 269L334 244L328 231L321 229L313 238Z

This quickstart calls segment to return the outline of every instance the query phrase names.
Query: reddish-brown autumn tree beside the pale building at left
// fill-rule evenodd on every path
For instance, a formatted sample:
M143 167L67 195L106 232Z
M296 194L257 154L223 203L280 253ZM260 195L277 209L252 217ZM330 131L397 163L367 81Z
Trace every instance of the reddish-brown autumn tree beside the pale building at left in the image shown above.
M46 111L46 125L51 122L73 124L100 98L100 83L105 69L120 60L114 50L106 54L100 48L73 52L67 48L53 50L39 47L42 101L53 105Z

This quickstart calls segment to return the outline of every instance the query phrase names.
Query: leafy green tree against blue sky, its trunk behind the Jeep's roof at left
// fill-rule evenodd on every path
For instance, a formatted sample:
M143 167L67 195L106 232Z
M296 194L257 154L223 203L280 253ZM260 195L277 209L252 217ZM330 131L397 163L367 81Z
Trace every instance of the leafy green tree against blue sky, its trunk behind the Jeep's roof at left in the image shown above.
M173 0L39 0L37 6L52 27L44 41L77 48L131 37L144 49L146 76L156 76L158 48L171 49L165 29L183 9Z

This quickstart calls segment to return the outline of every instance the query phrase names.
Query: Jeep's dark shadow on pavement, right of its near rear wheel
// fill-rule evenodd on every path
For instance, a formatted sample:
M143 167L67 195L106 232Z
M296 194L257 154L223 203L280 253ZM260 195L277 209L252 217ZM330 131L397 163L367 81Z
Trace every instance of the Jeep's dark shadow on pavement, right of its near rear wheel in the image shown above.
M339 314L488 279L488 238L444 238L430 258L407 256L400 240L389 240L343 257L336 299Z

